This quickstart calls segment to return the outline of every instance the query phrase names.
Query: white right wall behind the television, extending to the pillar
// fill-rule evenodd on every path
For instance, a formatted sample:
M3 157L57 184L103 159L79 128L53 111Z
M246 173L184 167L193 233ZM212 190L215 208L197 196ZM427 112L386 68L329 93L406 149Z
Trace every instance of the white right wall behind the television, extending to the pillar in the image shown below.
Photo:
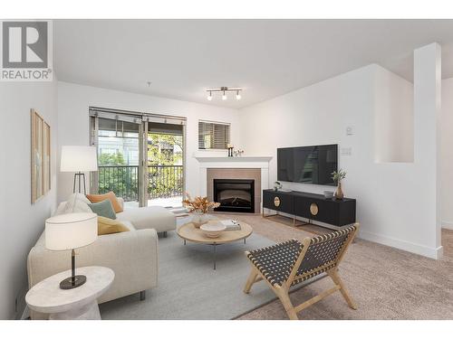
M272 183L276 180L277 147L331 143L351 147L352 155L339 155L339 166L348 174L344 193L357 199L361 238L436 258L439 248L430 213L433 197L427 188L435 178L423 172L429 164L375 162L375 118L389 114L388 105L412 106L411 84L388 73L370 65L241 109L244 149L246 155L274 156ZM405 94L400 99L389 98L392 94L386 87ZM387 108L382 102L388 103ZM390 111L398 109L391 107ZM353 128L352 136L346 136L346 127ZM415 155L417 152L420 149ZM284 186L314 193L332 189L310 184Z

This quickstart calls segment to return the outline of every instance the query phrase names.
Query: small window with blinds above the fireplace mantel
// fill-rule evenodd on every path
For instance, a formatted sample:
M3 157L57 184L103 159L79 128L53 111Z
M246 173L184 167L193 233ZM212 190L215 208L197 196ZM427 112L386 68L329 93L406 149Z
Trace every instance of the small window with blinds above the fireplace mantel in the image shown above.
M226 149L229 124L198 121L198 149Z

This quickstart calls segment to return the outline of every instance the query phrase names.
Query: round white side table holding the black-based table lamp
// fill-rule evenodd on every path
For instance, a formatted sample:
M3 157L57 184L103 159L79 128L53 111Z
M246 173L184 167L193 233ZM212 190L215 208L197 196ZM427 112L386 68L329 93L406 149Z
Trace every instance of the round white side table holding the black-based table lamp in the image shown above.
M36 312L49 314L51 320L100 320L96 299L111 287L115 273L100 266L77 268L76 272L87 278L81 287L60 288L60 281L71 277L69 269L34 285L25 296L27 305Z

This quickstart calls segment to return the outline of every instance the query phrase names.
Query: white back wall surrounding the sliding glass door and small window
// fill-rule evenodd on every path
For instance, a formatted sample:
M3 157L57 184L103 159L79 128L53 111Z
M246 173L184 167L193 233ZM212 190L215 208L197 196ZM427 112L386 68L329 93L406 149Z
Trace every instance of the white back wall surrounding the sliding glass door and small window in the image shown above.
M186 145L186 190L198 194L198 119L231 123L231 142L239 145L238 112L232 108L217 108L188 101L164 99L129 92L58 82L59 152L65 145L89 145L90 121L88 108L117 108L188 118ZM202 151L218 154L216 151ZM221 152L225 154L226 152ZM59 173L58 201L72 193L72 174Z

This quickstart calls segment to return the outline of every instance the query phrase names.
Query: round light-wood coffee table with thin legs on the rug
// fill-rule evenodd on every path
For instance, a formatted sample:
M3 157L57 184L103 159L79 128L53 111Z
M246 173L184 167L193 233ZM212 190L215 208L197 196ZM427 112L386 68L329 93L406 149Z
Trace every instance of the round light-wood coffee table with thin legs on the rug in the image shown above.
M217 220L212 220L208 222L216 222ZM218 221L217 221L218 222ZM246 238L252 234L252 227L246 222L241 221L241 229L236 231L222 231L218 238L207 238L207 236L200 229L196 228L192 222L185 223L179 227L177 233L180 238L184 240L184 245L186 241L197 242L199 244L210 245L214 248L214 269L216 269L216 260L217 260L217 246L226 244L228 242L234 242L238 240L244 240L246 243Z

